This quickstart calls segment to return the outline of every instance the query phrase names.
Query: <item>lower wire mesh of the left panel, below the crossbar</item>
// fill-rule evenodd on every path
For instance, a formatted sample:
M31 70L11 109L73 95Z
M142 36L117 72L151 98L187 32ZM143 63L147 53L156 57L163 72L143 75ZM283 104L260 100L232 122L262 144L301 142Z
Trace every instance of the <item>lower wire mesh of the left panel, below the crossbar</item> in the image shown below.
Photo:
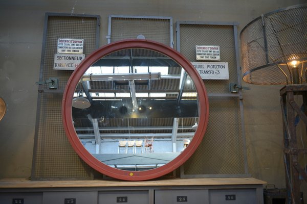
M39 126L32 179L85 179L91 168L75 153L62 125L62 94L39 93Z

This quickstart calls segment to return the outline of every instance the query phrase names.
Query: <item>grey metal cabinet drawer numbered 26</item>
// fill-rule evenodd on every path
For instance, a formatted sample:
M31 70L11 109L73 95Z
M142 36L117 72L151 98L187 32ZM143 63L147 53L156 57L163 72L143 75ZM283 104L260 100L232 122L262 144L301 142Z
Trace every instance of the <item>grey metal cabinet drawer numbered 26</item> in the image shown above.
M209 203L256 204L256 189L216 189L209 190Z

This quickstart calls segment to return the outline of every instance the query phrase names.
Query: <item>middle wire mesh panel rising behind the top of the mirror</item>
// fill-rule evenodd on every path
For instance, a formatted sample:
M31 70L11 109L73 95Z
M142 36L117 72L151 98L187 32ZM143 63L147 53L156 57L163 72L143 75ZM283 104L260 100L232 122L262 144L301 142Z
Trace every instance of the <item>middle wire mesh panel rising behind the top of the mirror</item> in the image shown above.
M111 18L111 25L109 25L111 42L145 38L172 47L172 18L170 17L110 16L109 18Z

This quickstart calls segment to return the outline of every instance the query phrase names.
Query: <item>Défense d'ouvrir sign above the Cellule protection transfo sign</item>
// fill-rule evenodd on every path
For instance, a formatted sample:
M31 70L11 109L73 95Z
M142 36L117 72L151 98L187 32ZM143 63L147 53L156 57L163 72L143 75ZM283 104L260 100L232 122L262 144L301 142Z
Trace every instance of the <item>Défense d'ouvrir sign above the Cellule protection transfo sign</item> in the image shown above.
M220 61L220 46L195 45L196 60Z

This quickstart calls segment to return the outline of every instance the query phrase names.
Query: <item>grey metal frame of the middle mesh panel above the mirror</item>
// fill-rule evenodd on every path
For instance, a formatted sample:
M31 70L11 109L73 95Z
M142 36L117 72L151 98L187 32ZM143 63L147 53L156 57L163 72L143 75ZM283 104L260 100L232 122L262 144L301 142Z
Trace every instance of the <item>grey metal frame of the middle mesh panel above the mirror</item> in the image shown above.
M137 18L137 19L169 19L169 29L170 29L170 44L169 46L173 48L173 28L172 28L172 17L168 16L129 16L129 15L110 15L108 17L108 31L107 31L107 44L111 43L111 25L112 18Z

